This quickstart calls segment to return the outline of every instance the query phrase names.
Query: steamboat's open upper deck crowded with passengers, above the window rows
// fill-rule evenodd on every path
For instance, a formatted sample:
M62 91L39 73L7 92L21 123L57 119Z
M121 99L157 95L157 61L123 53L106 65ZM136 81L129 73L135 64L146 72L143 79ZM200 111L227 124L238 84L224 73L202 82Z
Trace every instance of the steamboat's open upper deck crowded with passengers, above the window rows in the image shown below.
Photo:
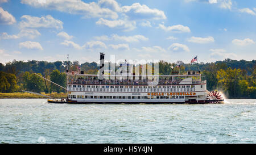
M191 85L205 83L201 74L159 75L159 76L108 76L98 79L95 74L68 74L68 84L81 85Z

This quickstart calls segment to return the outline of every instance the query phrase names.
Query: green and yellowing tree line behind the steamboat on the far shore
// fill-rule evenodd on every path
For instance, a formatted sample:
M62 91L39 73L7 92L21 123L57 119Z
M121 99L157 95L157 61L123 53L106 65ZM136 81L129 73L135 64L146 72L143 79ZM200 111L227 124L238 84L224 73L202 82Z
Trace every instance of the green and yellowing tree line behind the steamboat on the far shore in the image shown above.
M12 93L14 91L36 91L51 93L64 92L63 89L53 85L47 80L36 76L41 76L65 87L66 66L69 70L77 70L80 66L85 74L97 74L99 66L96 62L79 61L36 61L29 60L8 62L5 65L0 63L0 92ZM256 98L256 65L255 60L231 60L185 64L182 61L165 62L159 61L159 74L185 74L187 71L200 71L207 79L207 89L209 91L223 91L229 98Z

